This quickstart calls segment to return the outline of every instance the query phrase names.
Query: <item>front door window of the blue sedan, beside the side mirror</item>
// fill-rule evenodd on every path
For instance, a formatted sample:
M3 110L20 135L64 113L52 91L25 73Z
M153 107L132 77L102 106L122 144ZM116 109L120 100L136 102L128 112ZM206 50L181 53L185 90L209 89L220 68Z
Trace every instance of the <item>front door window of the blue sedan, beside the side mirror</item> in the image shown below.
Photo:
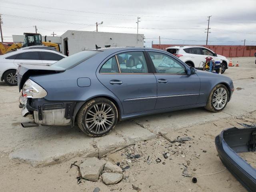
M157 73L186 74L185 67L171 56L158 52L148 53Z

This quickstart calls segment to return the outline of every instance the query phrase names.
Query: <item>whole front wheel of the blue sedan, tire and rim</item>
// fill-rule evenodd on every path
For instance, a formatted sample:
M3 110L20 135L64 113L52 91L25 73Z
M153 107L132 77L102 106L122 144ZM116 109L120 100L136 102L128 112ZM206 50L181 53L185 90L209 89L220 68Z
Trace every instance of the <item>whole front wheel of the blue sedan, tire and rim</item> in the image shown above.
M211 112L220 112L226 107L228 100L228 88L223 84L218 84L210 93L204 108Z

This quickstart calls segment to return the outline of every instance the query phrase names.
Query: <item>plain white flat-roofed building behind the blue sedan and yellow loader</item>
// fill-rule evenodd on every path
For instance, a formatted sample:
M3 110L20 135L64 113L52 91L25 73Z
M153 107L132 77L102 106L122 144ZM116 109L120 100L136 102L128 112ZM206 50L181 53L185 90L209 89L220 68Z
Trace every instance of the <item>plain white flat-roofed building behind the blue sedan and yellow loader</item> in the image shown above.
M138 38L137 38L138 37ZM24 35L12 35L14 43L24 41ZM42 35L42 41L44 41ZM143 47L144 34L91 32L68 30L61 36L47 36L46 41L60 45L60 51L65 55L72 55L82 50L98 47Z

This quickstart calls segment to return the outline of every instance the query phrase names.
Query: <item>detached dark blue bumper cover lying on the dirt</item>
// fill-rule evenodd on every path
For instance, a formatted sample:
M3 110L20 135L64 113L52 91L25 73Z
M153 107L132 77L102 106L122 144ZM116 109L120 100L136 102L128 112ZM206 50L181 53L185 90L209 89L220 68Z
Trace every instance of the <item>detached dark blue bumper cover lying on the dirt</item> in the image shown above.
M215 138L215 145L222 163L250 192L256 189L256 169L237 153L255 152L256 126L242 124L246 128L228 128Z

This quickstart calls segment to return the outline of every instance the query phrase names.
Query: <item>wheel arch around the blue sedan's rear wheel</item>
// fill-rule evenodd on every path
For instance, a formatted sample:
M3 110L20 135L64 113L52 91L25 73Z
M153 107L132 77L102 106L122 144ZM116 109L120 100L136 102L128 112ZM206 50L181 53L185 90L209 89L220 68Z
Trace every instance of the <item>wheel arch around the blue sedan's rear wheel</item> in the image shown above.
M84 104L86 104L89 100L95 99L95 98L100 98L100 97L106 98L106 99L108 99L108 100L110 100L110 101L112 101L112 102L114 103L114 105L115 105L116 108L117 108L117 112L118 112L118 121L121 120L122 104L121 104L121 106L120 106L120 104L118 103L118 101L116 101L115 98L112 98L112 97L110 97L110 96L98 95L98 96L94 96L94 97L88 98L88 100L86 100L86 101L82 101L82 102L77 102L77 103L76 103L76 106L74 107L74 112L73 112L73 125L74 125L74 123L76 122L76 115L77 115L78 111L80 110L80 108L81 108Z

